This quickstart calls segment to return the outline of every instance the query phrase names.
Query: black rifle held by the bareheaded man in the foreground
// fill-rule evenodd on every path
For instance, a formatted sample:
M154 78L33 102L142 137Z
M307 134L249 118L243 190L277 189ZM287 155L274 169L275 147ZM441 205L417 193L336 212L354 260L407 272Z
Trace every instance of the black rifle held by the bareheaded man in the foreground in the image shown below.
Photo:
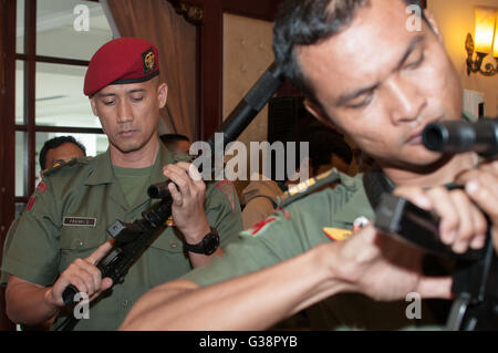
M498 157L498 118L477 123L452 121L432 123L423 132L424 146L447 154L476 152ZM405 198L384 194L375 211L375 227L439 256L456 259L452 291L456 297L447 319L448 330L498 329L498 260L488 233L481 250L456 255L439 241L439 219Z

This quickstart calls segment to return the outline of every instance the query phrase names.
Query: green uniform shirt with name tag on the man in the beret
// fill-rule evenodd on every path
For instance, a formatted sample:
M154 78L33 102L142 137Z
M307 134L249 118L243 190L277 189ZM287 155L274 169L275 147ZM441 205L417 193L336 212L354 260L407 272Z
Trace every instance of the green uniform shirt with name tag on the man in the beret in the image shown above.
M181 159L160 144L149 184L164 181L163 166ZM221 181L220 181L221 183ZM206 216L220 236L225 248L242 230L236 193L227 194L227 183L208 183ZM227 195L230 197L228 198ZM9 274L41 285L52 285L76 258L89 257L110 236L106 228L120 219L133 222L158 203L146 189L135 207L122 191L111 163L111 155L79 158L53 168L33 194L28 209L14 221L6 241L1 282ZM133 303L147 290L191 270L179 231L167 227L132 266L122 284L115 284L105 298L94 300L90 319L82 319L75 330L115 330ZM56 320L59 325L64 316Z

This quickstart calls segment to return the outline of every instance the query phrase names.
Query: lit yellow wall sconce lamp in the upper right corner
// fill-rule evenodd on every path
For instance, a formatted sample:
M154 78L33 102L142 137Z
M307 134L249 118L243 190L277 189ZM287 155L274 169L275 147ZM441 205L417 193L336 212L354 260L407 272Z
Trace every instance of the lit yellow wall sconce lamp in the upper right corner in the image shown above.
M498 10L496 8L476 8L476 31L474 42L470 33L467 35L465 49L467 50L467 74L480 72L485 76L498 73ZM476 60L474 60L476 51ZM483 69L485 58L492 54L496 65L488 62Z

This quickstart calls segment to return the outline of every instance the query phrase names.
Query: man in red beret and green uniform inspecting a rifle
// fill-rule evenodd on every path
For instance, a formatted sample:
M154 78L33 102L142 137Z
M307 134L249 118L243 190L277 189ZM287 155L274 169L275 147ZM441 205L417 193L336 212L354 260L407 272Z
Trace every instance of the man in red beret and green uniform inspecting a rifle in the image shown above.
M98 298L75 330L117 329L143 293L222 255L242 229L238 200L206 185L185 155L173 155L159 142L159 110L167 92L154 44L121 38L94 54L84 94L108 137L108 149L45 172L42 187L10 229L1 283L7 283L12 321L32 325L56 315L58 326L72 314L61 310L62 292L72 284L90 300ZM174 227L162 229L124 282L106 291L112 280L95 267L112 249L106 228L116 219L142 218L158 201L148 198L147 186L166 179L173 181ZM210 249L204 239L216 237L220 246Z

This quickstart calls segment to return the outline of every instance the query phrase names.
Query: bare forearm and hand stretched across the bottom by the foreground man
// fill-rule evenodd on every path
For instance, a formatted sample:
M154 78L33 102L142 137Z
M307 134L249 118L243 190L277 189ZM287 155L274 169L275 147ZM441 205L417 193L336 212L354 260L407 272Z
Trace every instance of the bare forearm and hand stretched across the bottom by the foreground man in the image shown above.
M387 250L387 252L386 252ZM449 298L450 278L426 278L422 253L367 227L264 270L205 288L177 280L148 292L122 330L264 330L340 292L376 300Z

